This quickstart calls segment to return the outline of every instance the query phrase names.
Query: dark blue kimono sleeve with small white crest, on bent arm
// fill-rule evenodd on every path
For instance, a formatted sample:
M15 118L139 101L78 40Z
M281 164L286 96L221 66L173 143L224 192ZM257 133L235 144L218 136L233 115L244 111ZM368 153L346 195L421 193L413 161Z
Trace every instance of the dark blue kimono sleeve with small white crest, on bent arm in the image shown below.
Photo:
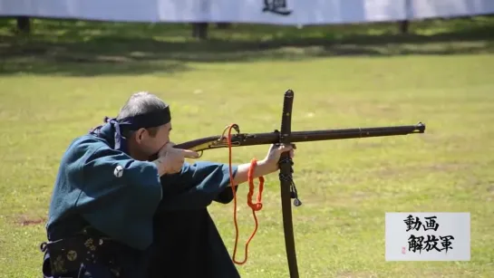
M80 195L75 206L96 229L142 249L152 241L152 216L162 188L158 168L106 144L81 144L75 165ZM78 157L78 156L76 156Z

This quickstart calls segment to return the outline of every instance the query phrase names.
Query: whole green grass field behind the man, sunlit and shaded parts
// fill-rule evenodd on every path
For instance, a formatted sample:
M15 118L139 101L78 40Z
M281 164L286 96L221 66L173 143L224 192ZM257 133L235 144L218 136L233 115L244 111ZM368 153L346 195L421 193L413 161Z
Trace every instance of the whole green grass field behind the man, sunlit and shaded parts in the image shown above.
M0 23L0 277L39 277L44 222L69 142L135 91L170 102L173 139L279 129L426 123L425 134L297 144L294 208L301 277L494 277L494 20L295 27ZM235 163L267 146L234 149ZM228 162L228 149L202 159ZM240 253L254 222L239 190ZM243 277L287 277L279 186L266 177ZM233 251L232 206L210 206ZM470 262L386 262L386 212L470 212Z

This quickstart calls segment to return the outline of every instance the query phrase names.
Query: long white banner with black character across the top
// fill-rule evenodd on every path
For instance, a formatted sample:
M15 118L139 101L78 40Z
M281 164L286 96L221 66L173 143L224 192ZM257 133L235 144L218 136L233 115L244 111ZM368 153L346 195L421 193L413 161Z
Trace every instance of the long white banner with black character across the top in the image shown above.
M0 0L4 16L123 22L308 25L491 13L493 0Z

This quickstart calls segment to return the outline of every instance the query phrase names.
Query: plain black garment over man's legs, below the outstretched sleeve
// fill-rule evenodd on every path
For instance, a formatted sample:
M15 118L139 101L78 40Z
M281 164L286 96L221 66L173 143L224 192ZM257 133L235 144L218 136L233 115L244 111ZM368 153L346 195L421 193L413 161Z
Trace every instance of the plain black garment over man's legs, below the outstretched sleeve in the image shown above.
M160 215L149 264L147 278L240 277L207 208Z

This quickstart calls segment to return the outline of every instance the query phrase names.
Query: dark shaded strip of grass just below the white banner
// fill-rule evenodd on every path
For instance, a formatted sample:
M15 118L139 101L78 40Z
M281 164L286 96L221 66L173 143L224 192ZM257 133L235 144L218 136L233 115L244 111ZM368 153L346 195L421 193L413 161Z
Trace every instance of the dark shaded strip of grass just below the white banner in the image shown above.
M494 53L494 18L397 24L288 26L237 24L190 38L189 24L122 24L35 20L33 34L0 21L0 74L93 76L183 72L188 62L298 61L333 56ZM214 27L213 27L214 28Z

